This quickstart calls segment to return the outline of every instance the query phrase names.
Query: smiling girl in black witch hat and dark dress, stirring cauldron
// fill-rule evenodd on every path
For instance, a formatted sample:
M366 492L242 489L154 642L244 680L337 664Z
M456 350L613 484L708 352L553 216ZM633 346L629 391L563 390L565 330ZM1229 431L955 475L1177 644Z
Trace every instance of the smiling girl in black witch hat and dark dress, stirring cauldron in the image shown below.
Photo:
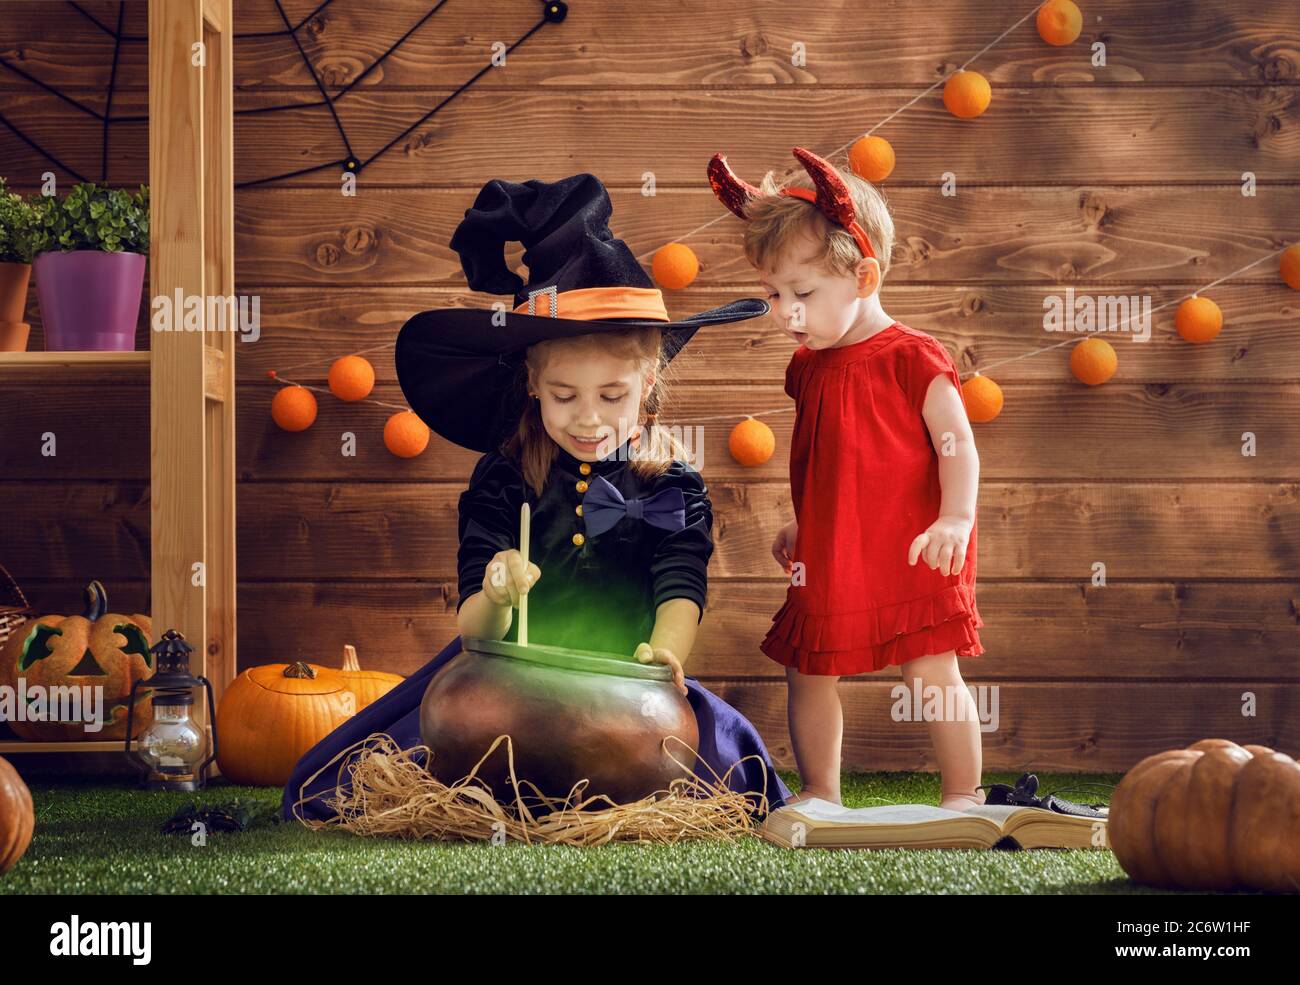
M655 424L662 370L690 337L770 307L750 298L670 320L611 234L611 212L592 174L489 182L451 247L469 287L512 295L514 309L428 311L402 327L394 357L407 403L448 441L485 452L459 500L460 635L299 760L286 816L329 820L326 799L351 760L304 784L368 736L419 745L430 678L462 652L462 638L516 642L524 594L530 645L672 668L699 728L701 780L731 771L728 786L766 794L768 808L789 797L754 726L682 671L705 608L712 509L699 473ZM526 285L506 266L511 240L525 247ZM517 550L525 502L526 569Z

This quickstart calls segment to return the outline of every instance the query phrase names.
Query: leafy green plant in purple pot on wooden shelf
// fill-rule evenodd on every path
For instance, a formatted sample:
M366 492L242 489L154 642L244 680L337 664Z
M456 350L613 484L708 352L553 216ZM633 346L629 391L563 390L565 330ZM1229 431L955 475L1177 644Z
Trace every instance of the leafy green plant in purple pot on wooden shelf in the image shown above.
M32 273L46 350L134 350L150 249L150 190L77 185L32 199Z

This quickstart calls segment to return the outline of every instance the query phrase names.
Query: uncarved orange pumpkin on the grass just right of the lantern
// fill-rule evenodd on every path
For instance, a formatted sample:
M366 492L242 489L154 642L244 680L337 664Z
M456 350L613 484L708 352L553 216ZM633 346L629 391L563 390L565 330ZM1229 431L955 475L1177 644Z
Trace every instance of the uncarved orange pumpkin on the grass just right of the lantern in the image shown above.
M283 786L303 754L356 713L338 671L302 661L239 674L217 707L217 765L233 784Z

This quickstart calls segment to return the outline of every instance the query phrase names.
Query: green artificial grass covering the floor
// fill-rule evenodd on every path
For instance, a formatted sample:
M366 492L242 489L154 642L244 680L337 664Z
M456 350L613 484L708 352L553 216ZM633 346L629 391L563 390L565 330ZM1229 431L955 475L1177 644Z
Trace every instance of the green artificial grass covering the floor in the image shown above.
M790 789L797 777L781 773ZM1039 773L1040 793L1108 799L1080 784L1118 774ZM1010 774L985 782L1014 784ZM138 790L130 780L32 778L36 830L0 877L18 893L1145 893L1109 851L789 850L734 843L568 846L411 842L312 832L298 821L209 833L204 847L164 834L177 808L235 797L278 806L278 787L217 784L199 794ZM933 773L844 777L844 803L939 803Z

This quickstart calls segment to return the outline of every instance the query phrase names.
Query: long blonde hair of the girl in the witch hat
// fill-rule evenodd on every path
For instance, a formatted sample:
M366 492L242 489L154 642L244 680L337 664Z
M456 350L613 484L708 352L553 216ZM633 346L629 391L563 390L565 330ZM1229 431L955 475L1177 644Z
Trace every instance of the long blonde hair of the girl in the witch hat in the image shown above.
M668 389L668 363L663 357L663 330L658 326L628 329L627 331L602 331L592 335L576 335L568 339L545 339L529 346L524 359L525 392L536 392L541 385L541 373L547 360L559 350L592 351L599 350L615 356L624 356L637 364L641 374L641 407L637 408L637 424L644 425L641 438L628 444L628 467L642 480L662 476L675 459L685 460L686 448L670 429L658 422L659 408L664 404ZM654 372L654 386L647 389L645 378ZM524 481L537 495L542 494L546 477L559 454L559 446L546 433L538 400L529 396L528 407L519 418L519 428L502 446L502 454L516 461L524 473Z

